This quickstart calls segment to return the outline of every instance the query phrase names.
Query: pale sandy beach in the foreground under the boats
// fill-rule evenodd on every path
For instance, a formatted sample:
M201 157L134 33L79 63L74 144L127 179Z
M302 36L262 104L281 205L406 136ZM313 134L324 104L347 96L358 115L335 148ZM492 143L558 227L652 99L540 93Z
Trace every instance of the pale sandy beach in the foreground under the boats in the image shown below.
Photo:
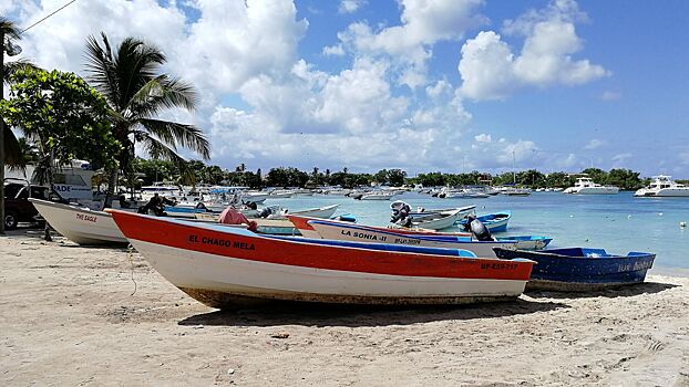
M689 279L510 303L218 312L136 252L0 237L2 386L687 386Z

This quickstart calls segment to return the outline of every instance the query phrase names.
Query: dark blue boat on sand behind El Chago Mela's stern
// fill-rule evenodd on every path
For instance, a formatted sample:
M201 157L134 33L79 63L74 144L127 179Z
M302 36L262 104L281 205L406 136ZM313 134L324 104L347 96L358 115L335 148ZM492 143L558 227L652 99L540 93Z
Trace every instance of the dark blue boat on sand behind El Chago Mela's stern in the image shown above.
M502 259L536 261L527 289L555 291L597 291L641 283L656 254L630 252L608 254L604 249L565 248L541 251L493 249Z

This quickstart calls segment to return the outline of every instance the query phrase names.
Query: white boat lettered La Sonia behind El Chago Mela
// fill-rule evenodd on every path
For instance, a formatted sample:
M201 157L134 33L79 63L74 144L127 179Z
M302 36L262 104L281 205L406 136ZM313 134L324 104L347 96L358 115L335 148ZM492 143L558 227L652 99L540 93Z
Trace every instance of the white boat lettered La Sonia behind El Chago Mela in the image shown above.
M516 249L516 241L476 241L471 234L414 232L403 229L357 224L352 222L290 216L292 224L308 226L319 238L341 241L391 243L441 249L469 250L477 257L495 257L493 248ZM301 232L301 230L299 230Z

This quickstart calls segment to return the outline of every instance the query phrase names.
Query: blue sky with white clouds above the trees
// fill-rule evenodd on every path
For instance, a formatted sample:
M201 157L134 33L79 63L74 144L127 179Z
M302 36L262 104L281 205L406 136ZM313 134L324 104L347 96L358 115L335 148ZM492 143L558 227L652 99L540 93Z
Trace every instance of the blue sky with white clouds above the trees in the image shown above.
M0 0L29 27L68 0ZM200 95L210 164L689 178L689 1L76 0L22 56L138 36ZM184 151L187 158L196 158Z

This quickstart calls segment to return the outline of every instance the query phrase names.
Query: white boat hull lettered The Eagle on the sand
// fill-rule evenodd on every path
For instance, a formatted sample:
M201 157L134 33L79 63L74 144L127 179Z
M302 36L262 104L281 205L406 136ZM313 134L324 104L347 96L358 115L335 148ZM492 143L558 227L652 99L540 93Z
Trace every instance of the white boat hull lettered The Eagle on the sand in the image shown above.
M41 217L64 238L79 244L128 243L107 212L29 199Z

